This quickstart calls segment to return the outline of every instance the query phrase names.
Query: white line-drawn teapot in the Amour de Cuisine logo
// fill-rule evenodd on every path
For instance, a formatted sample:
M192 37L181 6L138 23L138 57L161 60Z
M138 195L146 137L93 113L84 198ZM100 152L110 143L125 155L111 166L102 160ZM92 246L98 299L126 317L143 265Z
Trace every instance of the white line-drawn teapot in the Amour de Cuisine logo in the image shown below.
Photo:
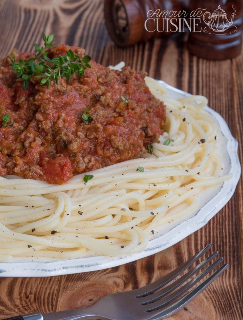
M232 5L232 8L234 12L231 14L230 20L227 19L226 12L223 9L221 9L219 5L218 8L214 10L212 14L211 12L206 11L203 15L203 21L209 28L211 28L215 32L223 32L228 28L230 28L230 26L233 23L234 16L236 15L235 6ZM208 17L209 21L205 20L206 14L209 14L209 17Z

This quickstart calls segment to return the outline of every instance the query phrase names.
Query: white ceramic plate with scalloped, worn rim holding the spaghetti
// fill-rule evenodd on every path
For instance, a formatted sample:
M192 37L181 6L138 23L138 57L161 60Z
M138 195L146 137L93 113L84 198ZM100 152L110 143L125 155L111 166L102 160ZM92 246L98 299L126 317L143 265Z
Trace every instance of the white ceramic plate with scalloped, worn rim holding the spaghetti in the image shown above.
M163 81L160 82L167 87L167 95L170 98L177 99L190 95ZM155 238L149 241L147 248L142 252L114 258L95 256L54 262L0 262L0 276L57 276L115 267L162 251L202 228L230 200L241 171L237 155L237 140L231 135L222 116L209 107L205 107L205 110L218 122L222 133L221 136L217 136L218 150L223 159L222 173L231 172L233 177L224 182L221 187L212 187L203 192L198 197L199 207L197 212L187 217L186 220L176 220L173 224L170 223L169 226L167 225L158 230Z

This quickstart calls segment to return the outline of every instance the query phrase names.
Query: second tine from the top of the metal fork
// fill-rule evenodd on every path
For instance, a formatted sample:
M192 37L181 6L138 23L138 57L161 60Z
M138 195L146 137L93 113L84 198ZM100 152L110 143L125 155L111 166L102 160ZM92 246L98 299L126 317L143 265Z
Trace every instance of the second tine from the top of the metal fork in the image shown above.
M188 280L191 276L193 276L195 273L197 273L199 270L201 270L207 263L209 263L211 260L213 260L217 255L219 254L218 251L211 254L209 257L207 257L204 261L199 263L196 267L194 267L192 270L188 271L184 276L181 276L179 279L174 281L172 284L168 285L164 289L156 292L153 294L153 296L150 296L153 299L147 300L147 296L143 298L139 298L142 305L155 302L161 298L163 298L165 295L169 294L176 288L178 288L181 284L183 284L186 280Z

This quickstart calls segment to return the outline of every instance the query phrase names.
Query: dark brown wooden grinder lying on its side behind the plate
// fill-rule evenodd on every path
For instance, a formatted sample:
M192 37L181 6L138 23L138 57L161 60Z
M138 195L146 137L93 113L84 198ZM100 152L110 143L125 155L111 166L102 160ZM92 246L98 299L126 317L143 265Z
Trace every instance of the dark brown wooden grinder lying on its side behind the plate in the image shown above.
M171 32L168 31L171 27L170 20L174 18L170 17L169 12L182 13L184 10L186 13L188 2L189 0L105 0L106 27L113 41L123 47L158 36L168 36L175 32L179 23L178 19L174 19L175 25L172 25ZM169 28L166 28L166 24Z

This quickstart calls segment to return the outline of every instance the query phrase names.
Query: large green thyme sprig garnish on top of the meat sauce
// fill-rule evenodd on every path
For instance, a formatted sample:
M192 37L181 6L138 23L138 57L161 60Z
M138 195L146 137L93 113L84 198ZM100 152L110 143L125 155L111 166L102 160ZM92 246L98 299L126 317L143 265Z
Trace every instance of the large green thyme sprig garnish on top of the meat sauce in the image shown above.
M47 49L51 48L55 43L52 42L53 37L53 34L46 36L43 33L44 47L40 48L38 44L34 43L37 53L33 58L29 58L26 61L20 59L19 62L15 62L14 58L11 59L13 62L12 69L17 71L18 78L21 77L23 79L24 89L28 86L28 80L35 76L42 78L40 84L47 84L47 88L49 88L51 80L55 80L56 84L58 84L58 77L65 76L67 81L70 81L72 74L77 73L81 77L85 74L85 67L91 68L88 63L91 60L90 56L86 55L81 59L71 49L66 51L66 55L50 59Z

